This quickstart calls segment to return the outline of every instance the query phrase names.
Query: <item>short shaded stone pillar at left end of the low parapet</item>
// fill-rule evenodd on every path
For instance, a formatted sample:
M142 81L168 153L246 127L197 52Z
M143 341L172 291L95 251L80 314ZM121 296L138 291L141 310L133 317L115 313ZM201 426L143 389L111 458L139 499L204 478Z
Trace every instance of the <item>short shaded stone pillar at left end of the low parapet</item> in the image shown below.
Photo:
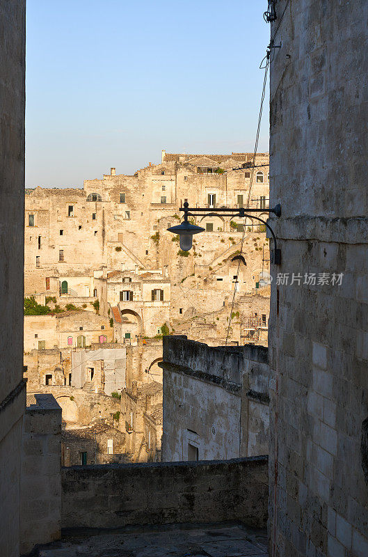
M61 407L52 395L30 395L22 434L20 552L60 537Z

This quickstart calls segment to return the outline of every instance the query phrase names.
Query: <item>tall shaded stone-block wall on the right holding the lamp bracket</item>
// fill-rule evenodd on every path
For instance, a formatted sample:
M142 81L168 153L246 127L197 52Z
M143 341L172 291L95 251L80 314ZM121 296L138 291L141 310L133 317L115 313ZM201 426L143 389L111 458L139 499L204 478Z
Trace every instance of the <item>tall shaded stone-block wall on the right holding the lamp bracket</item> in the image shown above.
M278 15L284 8L278 1ZM366 1L294 1L275 38L272 557L368 555L367 19ZM277 273L289 273L287 285Z

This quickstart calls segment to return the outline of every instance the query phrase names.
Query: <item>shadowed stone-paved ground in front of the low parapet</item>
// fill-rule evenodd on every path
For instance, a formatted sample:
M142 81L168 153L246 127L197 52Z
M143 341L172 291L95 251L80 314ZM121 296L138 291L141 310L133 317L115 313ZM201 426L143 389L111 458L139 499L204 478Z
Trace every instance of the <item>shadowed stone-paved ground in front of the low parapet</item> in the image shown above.
M266 557L266 532L239 524L64 537L38 557Z

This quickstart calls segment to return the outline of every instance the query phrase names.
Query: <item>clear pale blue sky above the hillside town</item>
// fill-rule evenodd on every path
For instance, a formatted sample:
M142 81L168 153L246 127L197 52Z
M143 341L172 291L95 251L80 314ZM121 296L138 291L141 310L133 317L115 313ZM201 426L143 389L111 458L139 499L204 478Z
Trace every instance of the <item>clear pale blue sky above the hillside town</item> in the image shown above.
M29 0L26 186L253 151L267 2ZM259 151L269 150L269 96Z

